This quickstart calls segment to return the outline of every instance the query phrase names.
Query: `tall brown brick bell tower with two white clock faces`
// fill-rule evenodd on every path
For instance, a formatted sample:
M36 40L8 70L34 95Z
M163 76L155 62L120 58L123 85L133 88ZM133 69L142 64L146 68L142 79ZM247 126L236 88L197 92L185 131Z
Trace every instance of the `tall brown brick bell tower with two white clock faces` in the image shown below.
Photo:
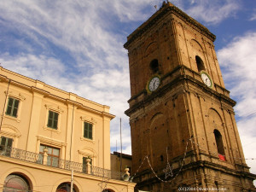
M137 189L256 191L214 40L169 2L127 38Z

